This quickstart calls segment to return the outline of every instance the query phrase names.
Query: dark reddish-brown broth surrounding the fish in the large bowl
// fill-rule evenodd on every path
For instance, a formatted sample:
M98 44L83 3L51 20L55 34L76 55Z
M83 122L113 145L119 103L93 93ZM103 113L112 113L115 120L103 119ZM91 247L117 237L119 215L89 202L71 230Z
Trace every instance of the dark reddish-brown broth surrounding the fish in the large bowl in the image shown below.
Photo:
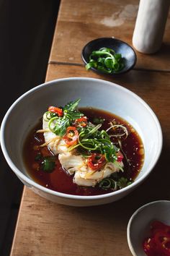
M133 129L128 122L121 119L119 116L115 116L107 111L95 108L81 108L80 110L91 122L93 122L95 117L104 119L102 129L108 129L109 121L112 121L113 119L117 123L124 124L125 127L127 127L129 135L126 140L122 141L122 150L128 158L128 162L125 161L125 158L123 161L125 166L123 176L134 180L136 176L138 176L144 160L143 143L135 129ZM46 146L43 148L39 147L44 143L44 137L43 134L36 133L37 129L42 129L42 121L40 121L35 129L33 129L27 136L23 150L24 163L26 165L27 172L35 182L41 184L43 187L47 187L48 189L71 195L101 195L112 192L110 189L104 190L98 186L80 187L76 185L73 183L73 176L70 176L65 170L63 170L61 163L58 161L58 157L56 157L55 170L52 173L45 173L40 170L40 168L38 168L37 161L35 161L37 153L42 153L43 156L53 155L53 153Z

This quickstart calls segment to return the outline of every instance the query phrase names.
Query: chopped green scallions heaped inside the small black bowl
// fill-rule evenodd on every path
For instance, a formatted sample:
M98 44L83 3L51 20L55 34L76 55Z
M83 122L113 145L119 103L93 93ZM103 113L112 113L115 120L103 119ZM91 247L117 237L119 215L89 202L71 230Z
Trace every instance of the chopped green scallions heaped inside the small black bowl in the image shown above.
M92 51L86 70L91 67L107 74L113 74L122 70L125 64L121 54L116 54L114 50L104 47L99 51Z

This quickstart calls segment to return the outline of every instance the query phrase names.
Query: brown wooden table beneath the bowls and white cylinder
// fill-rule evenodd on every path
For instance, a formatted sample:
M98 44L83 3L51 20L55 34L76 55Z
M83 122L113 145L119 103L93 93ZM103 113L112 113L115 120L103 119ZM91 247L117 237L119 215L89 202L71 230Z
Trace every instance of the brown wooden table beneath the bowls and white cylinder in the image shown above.
M109 205L58 205L24 187L12 256L130 256L126 236L130 216L147 202L170 200L170 19L161 50L153 55L137 53L135 69L127 74L108 78L86 72L81 61L81 48L94 38L115 36L132 45L137 9L135 0L61 1L46 80L97 77L137 93L161 122L164 147L158 163L146 182Z

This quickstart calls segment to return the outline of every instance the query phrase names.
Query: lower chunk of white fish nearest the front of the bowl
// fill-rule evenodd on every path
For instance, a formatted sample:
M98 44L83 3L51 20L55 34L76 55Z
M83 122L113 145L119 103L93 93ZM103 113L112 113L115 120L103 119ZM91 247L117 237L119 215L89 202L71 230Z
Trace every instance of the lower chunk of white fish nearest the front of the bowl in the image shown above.
M115 171L120 171L123 163L106 163L99 171L94 171L86 163L86 158L81 155L58 155L63 168L69 174L74 174L73 181L79 186L94 187L102 179L110 176Z

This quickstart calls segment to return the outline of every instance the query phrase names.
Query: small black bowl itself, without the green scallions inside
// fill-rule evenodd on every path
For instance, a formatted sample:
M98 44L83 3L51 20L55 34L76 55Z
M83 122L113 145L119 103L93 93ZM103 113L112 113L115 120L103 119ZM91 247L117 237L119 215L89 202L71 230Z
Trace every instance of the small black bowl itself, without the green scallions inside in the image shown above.
M112 74L123 74L130 71L130 69L133 69L135 66L137 60L135 51L131 46L128 45L128 43L125 43L117 38L97 38L87 43L81 53L81 58L83 59L84 63L87 64L89 62L89 56L92 51L97 51L102 47L112 48L117 54L122 55L125 67L123 67L123 69L121 69L119 72L112 72ZM106 74L98 69L95 69L94 67L91 67L91 70L99 74Z

